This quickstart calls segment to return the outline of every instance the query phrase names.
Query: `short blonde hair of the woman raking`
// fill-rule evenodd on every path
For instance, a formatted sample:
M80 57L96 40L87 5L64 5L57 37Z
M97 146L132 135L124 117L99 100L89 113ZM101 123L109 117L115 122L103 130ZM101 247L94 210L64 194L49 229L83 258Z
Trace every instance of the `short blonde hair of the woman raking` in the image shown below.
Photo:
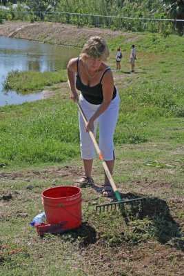
M94 59L101 58L103 61L107 60L109 56L108 43L101 37L90 37L84 44L80 55L83 60L87 57L94 57Z

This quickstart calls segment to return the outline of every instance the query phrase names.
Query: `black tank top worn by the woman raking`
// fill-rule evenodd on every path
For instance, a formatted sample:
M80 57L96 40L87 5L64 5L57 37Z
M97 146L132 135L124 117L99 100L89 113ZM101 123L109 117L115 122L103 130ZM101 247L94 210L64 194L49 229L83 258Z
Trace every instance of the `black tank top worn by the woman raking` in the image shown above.
M106 68L103 72L100 82L96 84L96 86L85 86L81 78L79 76L79 59L77 60L77 75L76 75L76 89L81 91L84 99L92 104L101 104L103 102L103 90L102 90L102 84L101 81L103 79L103 76L105 75L105 72L110 70L110 68ZM116 87L114 86L114 91L112 95L112 99L116 97Z

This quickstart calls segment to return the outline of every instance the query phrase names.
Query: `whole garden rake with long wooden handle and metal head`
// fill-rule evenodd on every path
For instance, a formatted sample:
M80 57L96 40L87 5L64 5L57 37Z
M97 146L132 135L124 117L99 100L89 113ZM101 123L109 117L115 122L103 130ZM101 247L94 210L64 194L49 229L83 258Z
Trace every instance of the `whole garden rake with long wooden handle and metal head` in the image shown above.
M85 125L88 123L86 117L85 117L85 114L83 112L83 109L81 107L81 103L79 103L79 101L77 101L77 105L79 107L79 111L81 112L81 116L83 117L83 120L85 122ZM130 203L130 202L133 202L133 201L141 201L141 200L145 200L145 197L136 197L134 199L127 199L127 200L124 200L122 201L121 200L121 195L119 194L119 191L117 190L116 188L116 185L114 183L114 180L112 179L112 175L110 173L110 170L104 160L104 157L101 153L101 150L99 148L99 145L97 144L96 142L96 139L94 137L94 134L91 130L88 131L89 132L89 135L92 139L92 142L94 144L94 148L96 149L96 152L97 154L99 155L99 159L101 161L101 164L103 165L103 169L105 170L105 173L110 181L110 185L112 186L112 190L114 192L114 195L117 199L117 201L113 201L113 202L110 202L110 203L107 203L107 204L101 204L101 205L96 205L96 211L99 210L99 212L101 213L101 211L105 211L105 210L116 210L116 208L121 208L124 204L127 204L127 203Z

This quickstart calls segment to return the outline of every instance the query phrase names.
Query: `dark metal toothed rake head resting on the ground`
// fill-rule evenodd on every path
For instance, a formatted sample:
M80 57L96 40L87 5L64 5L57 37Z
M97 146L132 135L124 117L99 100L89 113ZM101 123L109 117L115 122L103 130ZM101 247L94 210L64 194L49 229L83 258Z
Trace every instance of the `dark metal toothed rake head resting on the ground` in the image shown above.
M127 200L123 200L123 201L116 201L116 202L110 202L107 204L101 204L101 205L96 205L96 212L99 211L99 213L101 212L108 212L108 211L112 211L112 210L118 210L123 208L124 204L128 204L130 202L133 201L140 201L140 200L145 200L145 197L137 197L134 199L127 199Z

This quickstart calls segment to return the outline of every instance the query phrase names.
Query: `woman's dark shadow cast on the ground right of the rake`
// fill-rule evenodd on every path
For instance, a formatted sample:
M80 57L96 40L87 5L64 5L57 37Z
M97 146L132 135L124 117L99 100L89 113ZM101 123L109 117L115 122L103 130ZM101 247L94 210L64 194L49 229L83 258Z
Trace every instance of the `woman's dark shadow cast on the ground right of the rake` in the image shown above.
M122 200L138 198L140 195L134 193L121 194ZM126 204L127 205L127 204ZM136 216L137 219L149 219L154 223L156 229L154 235L161 244L167 244L176 249L184 251L184 241L180 224L174 221L170 209L163 199L158 197L145 197L143 201L130 202L128 213ZM126 208L122 208L122 215L126 224L130 223Z

